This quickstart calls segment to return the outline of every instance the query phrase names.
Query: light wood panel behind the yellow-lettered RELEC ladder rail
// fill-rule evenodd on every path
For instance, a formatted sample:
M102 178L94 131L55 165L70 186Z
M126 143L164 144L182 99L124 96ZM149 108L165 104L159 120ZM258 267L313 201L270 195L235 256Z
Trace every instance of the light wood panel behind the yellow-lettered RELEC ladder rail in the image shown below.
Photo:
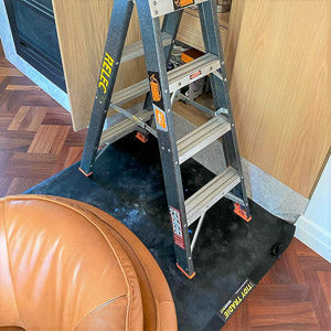
M53 0L60 49L76 130L90 118L113 0ZM140 39L135 11L127 43ZM146 76L142 57L121 65L116 90Z

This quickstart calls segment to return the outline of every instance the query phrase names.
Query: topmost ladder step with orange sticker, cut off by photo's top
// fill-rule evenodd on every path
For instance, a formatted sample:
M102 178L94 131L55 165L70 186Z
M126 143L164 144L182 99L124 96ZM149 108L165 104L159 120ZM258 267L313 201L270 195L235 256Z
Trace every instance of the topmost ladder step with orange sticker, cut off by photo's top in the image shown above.
M152 18L159 18L161 15L166 15L175 10L180 10L182 8L188 8L193 4L202 3L207 0L149 0L150 11ZM178 3L177 6L174 3Z

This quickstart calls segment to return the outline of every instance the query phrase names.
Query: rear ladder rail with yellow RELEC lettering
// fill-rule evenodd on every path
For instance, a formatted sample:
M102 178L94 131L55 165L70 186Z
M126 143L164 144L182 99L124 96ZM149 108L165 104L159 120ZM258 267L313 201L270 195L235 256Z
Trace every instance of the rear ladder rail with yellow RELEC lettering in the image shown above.
M93 167L109 109L132 9L132 0L114 1L96 97L79 168L85 175L93 173Z

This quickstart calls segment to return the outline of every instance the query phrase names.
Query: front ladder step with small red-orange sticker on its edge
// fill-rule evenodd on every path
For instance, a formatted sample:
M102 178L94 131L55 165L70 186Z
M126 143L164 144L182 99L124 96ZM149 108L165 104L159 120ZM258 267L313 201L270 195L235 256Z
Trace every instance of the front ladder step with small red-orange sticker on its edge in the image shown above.
M217 71L220 67L220 58L209 53L170 71L168 74L170 93Z

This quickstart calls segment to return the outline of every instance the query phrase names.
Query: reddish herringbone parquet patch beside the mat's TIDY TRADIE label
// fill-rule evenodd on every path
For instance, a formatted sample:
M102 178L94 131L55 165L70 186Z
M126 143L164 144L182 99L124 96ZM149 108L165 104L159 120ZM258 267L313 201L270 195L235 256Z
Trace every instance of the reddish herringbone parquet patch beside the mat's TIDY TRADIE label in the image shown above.
M293 239L224 330L331 330L331 265Z

